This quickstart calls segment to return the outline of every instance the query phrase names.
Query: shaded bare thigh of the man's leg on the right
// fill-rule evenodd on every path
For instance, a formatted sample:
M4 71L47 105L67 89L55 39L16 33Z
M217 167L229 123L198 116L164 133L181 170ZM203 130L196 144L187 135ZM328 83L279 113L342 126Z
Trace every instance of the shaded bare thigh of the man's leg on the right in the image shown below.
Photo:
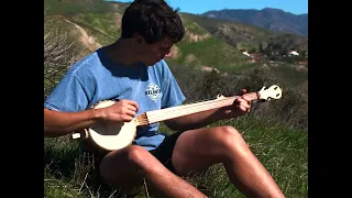
M238 136L231 127L202 128L185 131L176 141L172 162L177 175L207 170L221 163L226 155L224 136Z

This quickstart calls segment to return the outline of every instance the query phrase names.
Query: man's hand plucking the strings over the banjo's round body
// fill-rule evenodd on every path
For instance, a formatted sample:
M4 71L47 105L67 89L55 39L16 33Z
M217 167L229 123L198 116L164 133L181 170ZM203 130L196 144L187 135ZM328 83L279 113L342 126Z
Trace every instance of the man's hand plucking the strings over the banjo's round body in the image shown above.
M139 106L132 100L119 100L112 106L101 108L103 121L130 122L135 116Z

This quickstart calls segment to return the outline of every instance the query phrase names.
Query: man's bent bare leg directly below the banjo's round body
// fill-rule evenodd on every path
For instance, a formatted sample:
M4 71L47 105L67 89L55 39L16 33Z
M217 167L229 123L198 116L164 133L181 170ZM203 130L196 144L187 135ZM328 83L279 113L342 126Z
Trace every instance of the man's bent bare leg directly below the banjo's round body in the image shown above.
M205 198L196 187L169 172L141 146L110 152L100 164L101 177L113 187L133 188L145 178L148 190L157 197Z

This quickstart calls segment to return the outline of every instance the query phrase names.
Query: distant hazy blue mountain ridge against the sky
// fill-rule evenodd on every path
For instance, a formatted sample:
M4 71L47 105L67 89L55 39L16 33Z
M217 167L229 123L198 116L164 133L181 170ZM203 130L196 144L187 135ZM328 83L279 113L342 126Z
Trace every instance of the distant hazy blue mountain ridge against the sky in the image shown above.
M308 35L308 13L294 14L280 9L223 9L200 15L256 25L271 31Z

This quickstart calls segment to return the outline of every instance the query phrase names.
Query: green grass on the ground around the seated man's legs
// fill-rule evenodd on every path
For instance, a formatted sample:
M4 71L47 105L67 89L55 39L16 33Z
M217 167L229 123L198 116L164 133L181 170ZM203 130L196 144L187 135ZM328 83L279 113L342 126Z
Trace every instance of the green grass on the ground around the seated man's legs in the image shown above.
M242 132L287 198L308 196L308 133L286 129L279 124L262 123L246 117L220 121L212 125L230 124ZM164 124L161 130L168 131ZM44 140L45 197L109 197L116 189L94 190L86 185L86 168L80 164L76 142L65 138ZM215 165L204 176L186 178L213 198L243 197L229 183L222 166ZM119 197L119 196L117 196ZM123 197L122 195L120 197ZM141 193L139 197L145 197Z

